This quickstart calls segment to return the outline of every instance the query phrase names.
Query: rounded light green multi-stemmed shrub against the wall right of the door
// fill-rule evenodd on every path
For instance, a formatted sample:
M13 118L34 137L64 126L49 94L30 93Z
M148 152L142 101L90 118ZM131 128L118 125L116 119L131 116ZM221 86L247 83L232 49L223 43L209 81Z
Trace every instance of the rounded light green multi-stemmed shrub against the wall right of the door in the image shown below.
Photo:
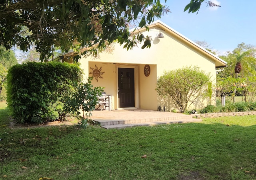
M210 74L199 67L184 67L166 71L157 80L156 90L160 96L170 96L180 112L188 110L196 99L207 91Z

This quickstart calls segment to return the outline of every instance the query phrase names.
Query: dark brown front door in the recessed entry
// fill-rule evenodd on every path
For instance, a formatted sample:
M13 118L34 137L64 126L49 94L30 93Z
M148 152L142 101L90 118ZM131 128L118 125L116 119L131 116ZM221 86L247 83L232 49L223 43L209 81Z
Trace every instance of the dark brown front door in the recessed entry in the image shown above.
M119 108L134 107L134 68L118 68Z

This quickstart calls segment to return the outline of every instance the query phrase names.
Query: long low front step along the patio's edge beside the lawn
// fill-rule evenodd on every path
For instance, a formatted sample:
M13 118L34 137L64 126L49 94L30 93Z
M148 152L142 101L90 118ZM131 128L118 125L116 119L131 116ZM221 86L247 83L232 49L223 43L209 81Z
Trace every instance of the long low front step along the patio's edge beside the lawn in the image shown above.
M112 125L102 125L102 127L105 129L121 129L126 127L152 126L152 125L173 124L173 123L192 123L192 122L200 122L200 121L202 121L202 119L196 119L196 118L185 118L185 119L179 119L179 120L166 120L166 121L147 121L147 122L140 122L140 123L120 123L120 121L109 121L108 123Z

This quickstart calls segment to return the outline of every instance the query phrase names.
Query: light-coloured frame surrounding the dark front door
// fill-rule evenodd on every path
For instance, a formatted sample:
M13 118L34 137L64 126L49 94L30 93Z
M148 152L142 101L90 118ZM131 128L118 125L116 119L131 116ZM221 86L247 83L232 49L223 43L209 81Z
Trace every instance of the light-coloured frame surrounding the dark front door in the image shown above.
M120 108L119 107L119 96L118 96L118 68L134 68L134 105L132 108ZM139 107L139 99L138 99L138 66L136 65L118 65L116 64L116 107L117 109L133 109Z

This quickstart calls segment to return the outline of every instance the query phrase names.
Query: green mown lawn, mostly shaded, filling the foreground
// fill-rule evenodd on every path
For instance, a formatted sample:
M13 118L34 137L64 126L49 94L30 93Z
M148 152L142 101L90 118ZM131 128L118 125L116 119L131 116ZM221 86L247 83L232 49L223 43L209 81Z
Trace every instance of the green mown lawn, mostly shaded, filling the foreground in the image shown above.
M0 126L0 179L253 180L255 132L254 115L110 130Z

